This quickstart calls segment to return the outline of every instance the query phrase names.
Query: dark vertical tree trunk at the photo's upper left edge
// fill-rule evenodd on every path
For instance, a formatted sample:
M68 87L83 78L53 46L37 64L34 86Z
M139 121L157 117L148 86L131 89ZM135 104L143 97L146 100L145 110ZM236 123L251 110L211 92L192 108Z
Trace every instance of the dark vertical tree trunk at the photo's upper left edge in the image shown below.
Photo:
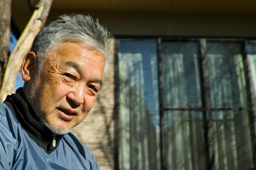
M0 82L9 55L11 0L0 0Z

